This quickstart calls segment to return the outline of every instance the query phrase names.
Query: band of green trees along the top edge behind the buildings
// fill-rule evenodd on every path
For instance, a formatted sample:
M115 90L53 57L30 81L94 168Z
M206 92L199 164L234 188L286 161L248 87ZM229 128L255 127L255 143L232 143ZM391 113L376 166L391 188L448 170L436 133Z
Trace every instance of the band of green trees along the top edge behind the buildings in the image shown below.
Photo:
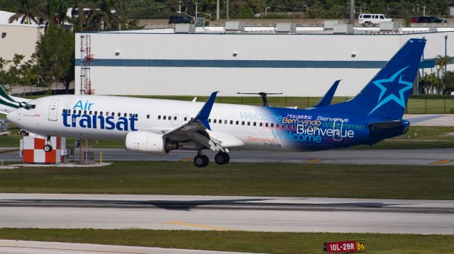
M450 0L356 0L356 13L384 13L392 18L421 16L423 8L427 15L446 17ZM57 16L65 18L67 8L92 8L90 22L101 19L111 23L110 18L121 16L125 20L142 18L168 18L175 15L181 6L182 12L194 16L197 3L198 11L216 13L216 0L0 0L2 11L31 13L34 16ZM345 0L221 0L221 18L226 18L228 3L229 18L348 18L348 1ZM425 7L424 7L425 6ZM264 17L265 8L267 17ZM109 10L121 15L111 16ZM39 15L38 15L39 14ZM84 21L82 21L84 22ZM116 22L116 21L114 21Z

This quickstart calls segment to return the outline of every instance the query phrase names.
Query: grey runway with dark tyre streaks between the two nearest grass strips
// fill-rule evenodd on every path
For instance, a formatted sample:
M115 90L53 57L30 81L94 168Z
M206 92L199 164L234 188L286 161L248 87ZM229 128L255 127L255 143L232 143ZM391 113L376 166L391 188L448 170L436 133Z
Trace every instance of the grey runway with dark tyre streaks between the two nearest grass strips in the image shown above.
M1 194L0 227L453 234L454 201Z

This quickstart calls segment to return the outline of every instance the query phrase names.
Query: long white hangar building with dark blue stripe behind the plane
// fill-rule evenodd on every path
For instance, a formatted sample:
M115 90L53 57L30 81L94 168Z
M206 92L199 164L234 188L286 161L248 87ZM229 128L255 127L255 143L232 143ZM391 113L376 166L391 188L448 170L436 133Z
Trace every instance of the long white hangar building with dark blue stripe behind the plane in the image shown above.
M427 39L420 65L425 71L431 71L438 54L445 54L445 42L447 54L454 56L454 28L438 28L436 33L401 28L386 34L374 28L367 33L355 28L354 34L324 33L323 28L319 32L297 28L292 34L270 33L270 28L236 33L197 29L201 30L76 34L75 93L80 93L83 80L84 35L90 37L94 59L88 72L96 95L208 96L221 91L220 96L236 96L237 92L265 91L323 96L334 81L342 79L336 96L354 96L412 37Z

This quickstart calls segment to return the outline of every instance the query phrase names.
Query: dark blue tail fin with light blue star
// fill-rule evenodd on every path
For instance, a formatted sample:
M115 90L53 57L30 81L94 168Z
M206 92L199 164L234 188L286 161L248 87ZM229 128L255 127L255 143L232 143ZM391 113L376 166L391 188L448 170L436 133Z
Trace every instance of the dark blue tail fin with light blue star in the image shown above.
M423 54L425 39L410 39L367 83L345 103L360 115L402 119Z

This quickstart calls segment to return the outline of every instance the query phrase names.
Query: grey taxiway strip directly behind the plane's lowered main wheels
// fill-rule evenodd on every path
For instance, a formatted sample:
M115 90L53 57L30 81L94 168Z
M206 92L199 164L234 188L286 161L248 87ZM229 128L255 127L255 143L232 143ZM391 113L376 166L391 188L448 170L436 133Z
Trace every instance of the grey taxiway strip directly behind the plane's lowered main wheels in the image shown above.
M0 149L1 150L1 149ZM18 151L4 148L0 161L22 161ZM93 149L99 158L99 149ZM211 162L213 151L204 151ZM231 162L330 163L379 165L454 165L454 148L415 150L330 150L309 152L231 151ZM137 154L125 149L102 149L103 161L192 161L194 151L170 151L165 155Z

